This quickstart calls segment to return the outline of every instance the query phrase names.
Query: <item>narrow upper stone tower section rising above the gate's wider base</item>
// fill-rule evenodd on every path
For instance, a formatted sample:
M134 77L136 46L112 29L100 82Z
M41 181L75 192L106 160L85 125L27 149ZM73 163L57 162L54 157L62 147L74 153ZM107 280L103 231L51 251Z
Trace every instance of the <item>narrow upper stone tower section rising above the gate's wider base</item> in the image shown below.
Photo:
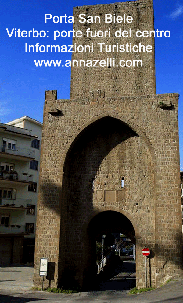
M87 16L99 16L100 23L80 23L79 14ZM105 23L105 14L115 14L115 16L131 16L132 23ZM83 20L81 20L83 21ZM95 98L97 94L105 97L130 96L155 94L155 63L154 63L154 38L138 38L135 35L137 30L154 30L153 2L152 0L127 1L105 5L92 5L74 8L74 28L84 33L82 38L74 38L73 44L94 45L94 52L74 52L73 60L106 60L107 57L115 58L115 62L120 60L142 60L142 67L72 67L70 98ZM86 30L92 31L109 30L109 38L87 37ZM116 30L129 31L131 37L116 38ZM152 45L152 52L100 52L97 43L106 45ZM91 80L92 79L92 80Z

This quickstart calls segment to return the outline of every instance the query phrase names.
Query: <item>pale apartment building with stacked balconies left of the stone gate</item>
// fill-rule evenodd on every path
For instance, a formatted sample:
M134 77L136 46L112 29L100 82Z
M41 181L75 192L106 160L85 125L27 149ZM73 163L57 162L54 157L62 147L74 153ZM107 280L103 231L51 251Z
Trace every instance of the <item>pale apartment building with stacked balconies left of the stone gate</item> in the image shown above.
M33 262L42 123L0 123L0 264Z

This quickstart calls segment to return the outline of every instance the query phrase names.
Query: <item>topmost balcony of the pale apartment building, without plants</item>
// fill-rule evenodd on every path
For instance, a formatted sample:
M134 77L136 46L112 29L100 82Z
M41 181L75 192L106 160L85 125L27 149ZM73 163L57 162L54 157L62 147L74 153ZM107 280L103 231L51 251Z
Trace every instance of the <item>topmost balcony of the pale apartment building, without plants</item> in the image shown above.
M15 149L9 149L3 145L2 152L0 152L0 156L3 158L15 160L31 161L35 158L35 151L32 149L17 146L15 147Z

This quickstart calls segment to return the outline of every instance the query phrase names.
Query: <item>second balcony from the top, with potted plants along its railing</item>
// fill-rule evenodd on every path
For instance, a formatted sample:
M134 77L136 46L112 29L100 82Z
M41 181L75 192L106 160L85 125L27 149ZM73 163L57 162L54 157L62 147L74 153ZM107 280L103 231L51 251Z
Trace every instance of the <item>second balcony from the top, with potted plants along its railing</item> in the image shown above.
M28 185L32 183L33 175L28 175L28 173L17 173L16 171L9 172L6 170L2 170L0 181L5 185Z

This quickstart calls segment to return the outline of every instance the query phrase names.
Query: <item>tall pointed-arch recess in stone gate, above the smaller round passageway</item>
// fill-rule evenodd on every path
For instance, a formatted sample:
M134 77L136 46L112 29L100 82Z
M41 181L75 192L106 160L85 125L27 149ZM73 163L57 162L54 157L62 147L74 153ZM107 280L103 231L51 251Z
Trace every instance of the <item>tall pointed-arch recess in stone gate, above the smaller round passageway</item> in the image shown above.
M91 268L84 257L90 250L82 229L86 217L93 211L126 212L138 222L143 238L143 216L149 216L151 230L154 229L153 191L149 149L125 123L105 116L80 133L64 163L62 196L66 226L65 238L60 237L59 260L64 281L82 285Z

